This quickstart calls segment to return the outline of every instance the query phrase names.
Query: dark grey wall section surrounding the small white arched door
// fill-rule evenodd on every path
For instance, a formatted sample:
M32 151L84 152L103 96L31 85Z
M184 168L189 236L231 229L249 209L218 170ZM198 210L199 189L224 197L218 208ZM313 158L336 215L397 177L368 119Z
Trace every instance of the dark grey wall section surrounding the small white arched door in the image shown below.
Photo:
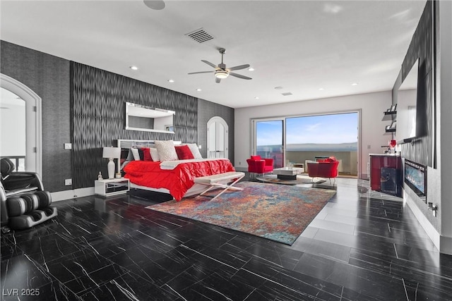
M234 162L234 109L229 106L222 106L203 99L198 99L198 144L202 145L200 149L203 157L207 156L207 122L214 116L220 116L225 119L228 132L228 159Z

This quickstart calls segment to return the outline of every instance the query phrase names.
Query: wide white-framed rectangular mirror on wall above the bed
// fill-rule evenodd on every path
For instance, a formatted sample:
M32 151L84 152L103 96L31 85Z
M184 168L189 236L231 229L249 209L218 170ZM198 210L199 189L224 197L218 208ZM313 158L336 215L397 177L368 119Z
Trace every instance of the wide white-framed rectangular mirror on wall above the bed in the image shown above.
M126 102L126 130L174 134L173 116L176 112Z

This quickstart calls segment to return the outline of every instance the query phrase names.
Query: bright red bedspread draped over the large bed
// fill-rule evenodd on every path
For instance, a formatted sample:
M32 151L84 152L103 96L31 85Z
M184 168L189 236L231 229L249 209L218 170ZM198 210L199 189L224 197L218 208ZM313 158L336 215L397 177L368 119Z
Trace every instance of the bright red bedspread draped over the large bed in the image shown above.
M181 163L174 169L160 168L160 162L131 161L124 167L125 178L149 188L166 188L178 201L194 185L194 178L235 171L228 159Z

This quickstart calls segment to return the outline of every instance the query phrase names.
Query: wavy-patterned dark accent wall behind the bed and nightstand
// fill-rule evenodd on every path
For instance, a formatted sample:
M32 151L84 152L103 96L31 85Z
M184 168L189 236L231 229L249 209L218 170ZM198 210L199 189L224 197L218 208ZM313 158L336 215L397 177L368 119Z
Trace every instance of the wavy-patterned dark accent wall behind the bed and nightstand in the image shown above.
M198 142L198 99L139 80L72 63L73 188L93 187L107 175L102 147L118 139ZM174 132L125 129L125 103L175 111Z

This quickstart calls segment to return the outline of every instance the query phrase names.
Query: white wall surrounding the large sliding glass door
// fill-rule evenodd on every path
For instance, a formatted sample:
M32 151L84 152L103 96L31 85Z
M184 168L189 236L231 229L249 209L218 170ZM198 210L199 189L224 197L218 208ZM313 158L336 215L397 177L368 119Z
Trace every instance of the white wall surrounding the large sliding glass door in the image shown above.
M383 153L382 145L388 145L391 135L383 135L391 121L381 121L383 112L391 106L391 91L357 94L344 97L314 99L286 104L254 106L235 109L234 115L234 166L247 168L246 159L251 155L251 119L281 116L307 116L320 113L361 111L361 171L367 176L369 154Z

